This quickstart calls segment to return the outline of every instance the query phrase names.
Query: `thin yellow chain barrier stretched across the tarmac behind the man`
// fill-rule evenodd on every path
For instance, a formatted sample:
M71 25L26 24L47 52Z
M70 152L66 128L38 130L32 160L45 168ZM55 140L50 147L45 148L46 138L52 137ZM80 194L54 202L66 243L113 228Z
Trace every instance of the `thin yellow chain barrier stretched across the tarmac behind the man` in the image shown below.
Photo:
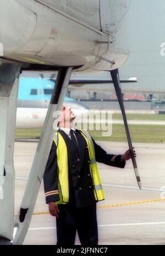
M165 201L165 199L151 199L151 200L144 200L144 201L136 201L136 202L124 202L123 204L113 204L113 205L100 205L97 206L97 208L106 208L106 207L117 207L117 206L127 206L127 205L138 205L138 204L145 204L147 202L162 202ZM34 212L32 215L45 215L50 214L49 211L46 212ZM17 217L18 215L14 215L14 217Z

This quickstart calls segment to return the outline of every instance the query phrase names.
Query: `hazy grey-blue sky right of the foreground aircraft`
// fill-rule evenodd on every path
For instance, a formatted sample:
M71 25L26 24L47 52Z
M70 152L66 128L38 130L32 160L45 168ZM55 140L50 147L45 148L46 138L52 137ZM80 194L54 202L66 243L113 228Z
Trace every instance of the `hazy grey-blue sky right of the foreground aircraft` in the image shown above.
M119 68L122 78L137 77L136 87L165 92L165 1L132 0L129 10L130 57Z

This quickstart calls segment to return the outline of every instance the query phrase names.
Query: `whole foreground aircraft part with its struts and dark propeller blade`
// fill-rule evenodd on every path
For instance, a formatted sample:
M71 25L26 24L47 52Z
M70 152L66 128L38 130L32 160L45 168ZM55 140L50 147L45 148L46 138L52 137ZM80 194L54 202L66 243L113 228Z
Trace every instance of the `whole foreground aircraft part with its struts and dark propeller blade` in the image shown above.
M118 68L129 57L131 0L0 1L0 244L22 244L30 225L72 72L111 72L133 160ZM21 71L58 71L18 217L14 219L14 131ZM109 73L110 77L110 73ZM13 230L17 232L13 238Z

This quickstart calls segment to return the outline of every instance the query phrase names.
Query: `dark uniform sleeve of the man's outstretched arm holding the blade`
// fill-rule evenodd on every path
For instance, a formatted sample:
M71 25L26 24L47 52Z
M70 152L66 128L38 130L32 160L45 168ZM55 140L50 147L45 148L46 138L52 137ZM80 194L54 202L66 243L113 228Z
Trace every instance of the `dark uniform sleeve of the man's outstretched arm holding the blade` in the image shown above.
M122 154L107 154L105 150L99 145L96 144L94 139L92 138L92 141L94 142L95 147L95 156L96 161L100 163L107 164L108 166L114 166L118 168L124 168L125 167L125 161L122 161L121 157Z

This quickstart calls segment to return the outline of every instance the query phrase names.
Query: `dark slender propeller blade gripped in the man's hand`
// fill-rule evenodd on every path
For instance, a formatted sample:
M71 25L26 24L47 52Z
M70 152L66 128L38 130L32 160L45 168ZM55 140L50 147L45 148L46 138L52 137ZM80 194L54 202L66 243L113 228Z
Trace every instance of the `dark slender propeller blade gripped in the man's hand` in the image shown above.
M133 150L133 145L132 145L132 142L131 142L128 122L127 122L127 116L125 114L124 103L123 103L123 95L122 95L122 90L121 90L121 87L120 87L120 79L119 79L118 69L111 71L111 76L112 76L114 88L116 90L116 94L117 94L117 97L118 97L118 102L119 102L119 105L120 105L120 109L121 109L122 115L123 115L125 132L127 134L127 140L128 140L128 145L129 145L129 149L130 149L130 152L131 152L131 159L132 159L132 162L133 162L133 167L134 167L134 171L135 171L135 175L136 175L136 180L138 182L139 188L141 189L141 180L140 180L140 176L139 176L138 166L136 164L136 159L134 157L134 150Z

